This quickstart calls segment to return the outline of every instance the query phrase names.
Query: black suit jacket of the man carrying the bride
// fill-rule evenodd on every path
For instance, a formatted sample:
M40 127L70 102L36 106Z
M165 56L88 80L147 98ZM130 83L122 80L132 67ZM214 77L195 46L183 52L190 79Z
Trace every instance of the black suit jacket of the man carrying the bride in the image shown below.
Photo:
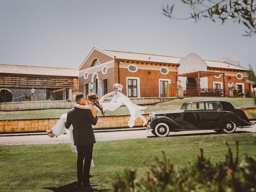
M94 132L92 130L92 124L96 125L98 116L94 118L92 112L89 109L72 108L68 110L66 128L73 125L73 138L74 145L89 145L96 143Z

